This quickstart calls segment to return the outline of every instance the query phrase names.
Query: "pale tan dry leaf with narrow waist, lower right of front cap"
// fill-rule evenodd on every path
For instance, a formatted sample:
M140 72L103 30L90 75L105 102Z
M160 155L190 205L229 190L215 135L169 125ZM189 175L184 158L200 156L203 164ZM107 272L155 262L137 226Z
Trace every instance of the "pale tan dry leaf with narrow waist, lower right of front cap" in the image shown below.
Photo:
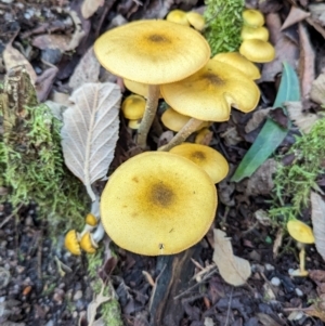
M230 238L226 237L223 231L214 229L213 233L213 261L219 269L220 275L231 285L239 286L245 284L251 274L249 262L233 255Z

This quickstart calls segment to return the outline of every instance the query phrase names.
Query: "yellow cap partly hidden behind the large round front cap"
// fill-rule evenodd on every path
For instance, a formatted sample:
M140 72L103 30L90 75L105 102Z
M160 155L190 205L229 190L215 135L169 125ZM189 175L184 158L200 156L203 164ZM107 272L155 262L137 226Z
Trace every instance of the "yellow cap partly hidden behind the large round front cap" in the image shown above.
M174 146L169 152L181 155L198 165L210 175L213 183L220 182L229 172L226 159L209 146L183 143Z

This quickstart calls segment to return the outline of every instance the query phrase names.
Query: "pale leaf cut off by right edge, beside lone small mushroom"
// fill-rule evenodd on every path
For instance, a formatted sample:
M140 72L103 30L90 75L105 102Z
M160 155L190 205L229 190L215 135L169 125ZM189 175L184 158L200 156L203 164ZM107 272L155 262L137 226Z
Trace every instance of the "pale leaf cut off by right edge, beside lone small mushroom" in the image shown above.
M310 201L315 246L323 260L325 260L325 201L314 192L310 194Z

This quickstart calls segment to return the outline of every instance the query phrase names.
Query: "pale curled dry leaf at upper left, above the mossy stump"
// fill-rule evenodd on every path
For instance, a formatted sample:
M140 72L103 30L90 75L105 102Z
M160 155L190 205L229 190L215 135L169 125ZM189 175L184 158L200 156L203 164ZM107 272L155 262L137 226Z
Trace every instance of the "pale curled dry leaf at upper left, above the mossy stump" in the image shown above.
M25 69L29 74L30 79L31 79L32 83L35 84L35 82L37 80L37 75L34 70L34 68L31 67L28 60L18 50L13 48L11 43L6 44L6 47L2 53L2 56L3 56L4 66L5 66L6 71L9 71L11 68L13 68L15 66L25 66Z

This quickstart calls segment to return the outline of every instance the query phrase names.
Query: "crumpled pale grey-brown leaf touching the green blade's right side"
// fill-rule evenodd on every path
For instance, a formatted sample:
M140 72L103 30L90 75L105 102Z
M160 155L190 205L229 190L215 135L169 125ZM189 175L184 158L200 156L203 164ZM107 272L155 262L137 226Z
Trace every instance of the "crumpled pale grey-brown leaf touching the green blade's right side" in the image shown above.
M285 107L290 119L304 133L309 133L314 123L318 120L318 116L311 113L302 112L302 103L300 101L285 102Z

